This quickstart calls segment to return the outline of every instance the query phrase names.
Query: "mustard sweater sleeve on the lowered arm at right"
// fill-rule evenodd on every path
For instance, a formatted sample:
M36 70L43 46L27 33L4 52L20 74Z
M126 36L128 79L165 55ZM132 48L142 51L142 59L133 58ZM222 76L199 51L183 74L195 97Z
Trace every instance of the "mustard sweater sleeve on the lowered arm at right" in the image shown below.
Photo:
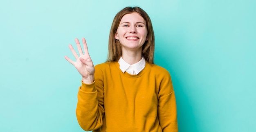
M158 116L162 132L178 132L176 100L169 73L159 86Z

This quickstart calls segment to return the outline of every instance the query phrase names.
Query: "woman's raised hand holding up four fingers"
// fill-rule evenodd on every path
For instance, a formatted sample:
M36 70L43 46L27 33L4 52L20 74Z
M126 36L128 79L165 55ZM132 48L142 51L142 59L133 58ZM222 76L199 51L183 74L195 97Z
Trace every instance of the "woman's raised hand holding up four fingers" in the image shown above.
M76 38L75 41L76 41L76 47L78 49L80 57L78 56L78 54L76 53L76 51L74 50L72 45L68 45L68 47L72 51L72 54L76 58L76 61L71 60L67 56L65 56L65 59L68 62L70 62L72 65L74 65L74 67L76 67L77 71L82 76L83 83L90 84L94 81L95 69L94 69L94 66L93 66L93 63L92 63L92 59L91 59L91 57L88 53L88 47L87 47L87 44L86 44L86 40L85 40L85 38L82 38L84 54L83 54L83 50L81 48L81 45L79 43L79 40Z

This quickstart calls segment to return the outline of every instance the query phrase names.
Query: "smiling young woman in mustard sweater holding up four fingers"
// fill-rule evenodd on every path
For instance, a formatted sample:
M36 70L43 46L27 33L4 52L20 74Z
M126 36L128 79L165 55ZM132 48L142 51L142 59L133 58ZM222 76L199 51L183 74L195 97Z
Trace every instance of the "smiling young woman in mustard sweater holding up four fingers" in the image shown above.
M178 132L175 94L168 71L153 64L154 32L147 13L126 7L115 16L108 59L94 67L82 38L84 54L69 45L76 61L65 56L82 76L76 116L93 132ZM79 57L80 56L80 57Z

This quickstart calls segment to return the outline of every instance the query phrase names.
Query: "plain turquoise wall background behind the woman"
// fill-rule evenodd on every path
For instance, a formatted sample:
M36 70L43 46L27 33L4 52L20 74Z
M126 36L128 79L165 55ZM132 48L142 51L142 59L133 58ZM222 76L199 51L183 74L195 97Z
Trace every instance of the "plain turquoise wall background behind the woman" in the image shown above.
M180 132L256 131L255 0L1 0L0 131L83 132L81 76L64 56L85 37L106 60L115 14L139 6L155 31L155 63L171 74Z

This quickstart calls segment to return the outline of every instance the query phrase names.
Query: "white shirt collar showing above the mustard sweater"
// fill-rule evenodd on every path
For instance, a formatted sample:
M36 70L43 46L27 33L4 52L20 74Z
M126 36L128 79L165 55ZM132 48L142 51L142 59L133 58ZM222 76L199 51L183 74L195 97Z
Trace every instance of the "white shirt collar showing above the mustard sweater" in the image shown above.
M122 56L118 60L118 63L120 65L119 68L121 69L121 71L123 73L127 72L128 74L131 74L131 75L139 74L139 72L141 72L146 66L146 60L144 59L143 56L142 56L141 60L139 60L139 62L137 62L133 65L130 65L127 62L125 62L124 59L122 58Z

